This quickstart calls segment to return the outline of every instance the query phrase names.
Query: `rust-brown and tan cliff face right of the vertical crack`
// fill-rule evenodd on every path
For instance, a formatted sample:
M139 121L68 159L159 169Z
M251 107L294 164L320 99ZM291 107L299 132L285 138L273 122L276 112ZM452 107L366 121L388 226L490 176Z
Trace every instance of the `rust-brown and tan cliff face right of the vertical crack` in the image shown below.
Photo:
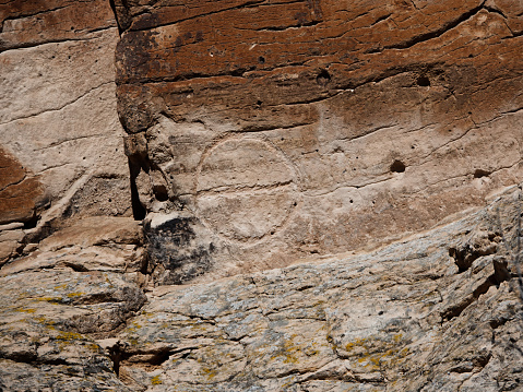
M192 215L201 281L383 243L522 180L521 1L115 2L139 215Z

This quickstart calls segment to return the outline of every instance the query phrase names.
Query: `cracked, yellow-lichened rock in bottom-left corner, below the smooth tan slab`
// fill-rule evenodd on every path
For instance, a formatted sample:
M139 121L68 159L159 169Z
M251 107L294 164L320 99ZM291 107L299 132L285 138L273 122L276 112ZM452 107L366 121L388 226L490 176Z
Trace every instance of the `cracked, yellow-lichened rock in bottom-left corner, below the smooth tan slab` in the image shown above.
M2 276L0 387L4 391L128 391L86 332L108 332L145 297L114 273L52 270Z

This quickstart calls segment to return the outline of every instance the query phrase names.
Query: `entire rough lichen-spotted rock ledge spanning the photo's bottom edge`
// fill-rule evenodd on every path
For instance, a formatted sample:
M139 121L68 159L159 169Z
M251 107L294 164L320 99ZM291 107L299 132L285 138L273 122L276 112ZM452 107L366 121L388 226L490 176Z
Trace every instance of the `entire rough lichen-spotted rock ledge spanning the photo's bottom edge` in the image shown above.
M483 210L369 253L158 286L146 304L116 272L8 265L0 277L0 385L519 390L519 214L521 189L514 187ZM131 233L108 227L86 235L83 246L132 242ZM46 241L60 247L69 238L74 235L64 231Z

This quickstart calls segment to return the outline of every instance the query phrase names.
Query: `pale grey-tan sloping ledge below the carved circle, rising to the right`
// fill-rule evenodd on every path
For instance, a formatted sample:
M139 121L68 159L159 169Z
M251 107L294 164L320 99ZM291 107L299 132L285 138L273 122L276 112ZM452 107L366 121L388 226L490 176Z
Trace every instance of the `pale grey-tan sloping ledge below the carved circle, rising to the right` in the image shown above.
M519 194L371 253L158 288L119 334L120 377L143 391L518 390Z

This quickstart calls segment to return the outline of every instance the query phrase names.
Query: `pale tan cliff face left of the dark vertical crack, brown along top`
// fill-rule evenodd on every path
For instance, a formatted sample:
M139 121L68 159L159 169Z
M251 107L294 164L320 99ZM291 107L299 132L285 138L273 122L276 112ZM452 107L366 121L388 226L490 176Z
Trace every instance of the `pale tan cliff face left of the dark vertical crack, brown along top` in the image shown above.
M41 185L47 215L131 213L116 115L118 39L105 0L0 3L0 146L31 173L34 192ZM27 209L29 193L11 214L2 205L0 223L27 221L14 211Z

